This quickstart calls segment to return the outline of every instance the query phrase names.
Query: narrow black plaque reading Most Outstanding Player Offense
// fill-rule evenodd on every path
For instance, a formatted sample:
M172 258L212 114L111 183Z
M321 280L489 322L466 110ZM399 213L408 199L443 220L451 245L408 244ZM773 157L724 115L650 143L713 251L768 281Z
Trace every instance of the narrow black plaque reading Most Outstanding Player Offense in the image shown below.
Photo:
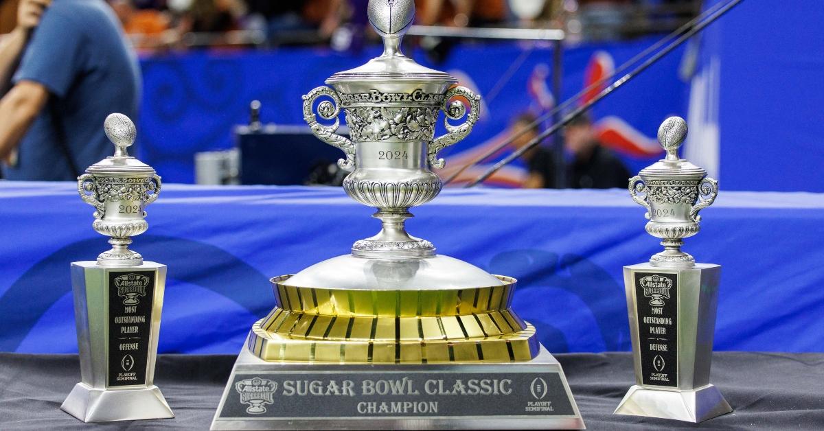
M109 273L109 386L146 384L156 276Z

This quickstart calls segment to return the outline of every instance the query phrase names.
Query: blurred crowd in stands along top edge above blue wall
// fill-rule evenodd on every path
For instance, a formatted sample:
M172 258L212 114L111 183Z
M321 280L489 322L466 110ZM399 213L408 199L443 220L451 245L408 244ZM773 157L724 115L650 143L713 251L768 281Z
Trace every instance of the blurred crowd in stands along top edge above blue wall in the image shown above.
M203 47L330 45L369 38L368 0L108 0L143 52ZM18 0L0 0L0 34ZM416 0L417 24L566 30L569 41L615 40L677 28L700 0ZM5 28L4 28L5 27Z

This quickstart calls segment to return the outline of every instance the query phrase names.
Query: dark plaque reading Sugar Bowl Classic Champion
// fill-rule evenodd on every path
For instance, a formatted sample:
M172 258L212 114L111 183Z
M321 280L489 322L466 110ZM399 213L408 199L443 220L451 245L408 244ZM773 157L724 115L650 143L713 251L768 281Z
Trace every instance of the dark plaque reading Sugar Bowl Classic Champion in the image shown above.
M575 415L558 372L240 372L218 419Z

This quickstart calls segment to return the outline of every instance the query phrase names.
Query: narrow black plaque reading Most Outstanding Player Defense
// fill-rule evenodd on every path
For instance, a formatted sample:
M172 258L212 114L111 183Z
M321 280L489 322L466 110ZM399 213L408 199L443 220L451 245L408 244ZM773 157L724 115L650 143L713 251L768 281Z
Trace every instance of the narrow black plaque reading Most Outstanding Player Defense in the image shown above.
M635 273L641 378L678 386L678 275Z

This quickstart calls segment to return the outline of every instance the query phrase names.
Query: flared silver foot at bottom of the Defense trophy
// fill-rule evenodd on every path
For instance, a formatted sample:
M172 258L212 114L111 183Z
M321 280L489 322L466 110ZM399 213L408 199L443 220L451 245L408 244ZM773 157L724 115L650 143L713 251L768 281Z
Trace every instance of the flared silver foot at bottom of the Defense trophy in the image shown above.
M647 416L699 423L733 411L713 385L689 391L648 389L634 385L618 405L616 415Z

